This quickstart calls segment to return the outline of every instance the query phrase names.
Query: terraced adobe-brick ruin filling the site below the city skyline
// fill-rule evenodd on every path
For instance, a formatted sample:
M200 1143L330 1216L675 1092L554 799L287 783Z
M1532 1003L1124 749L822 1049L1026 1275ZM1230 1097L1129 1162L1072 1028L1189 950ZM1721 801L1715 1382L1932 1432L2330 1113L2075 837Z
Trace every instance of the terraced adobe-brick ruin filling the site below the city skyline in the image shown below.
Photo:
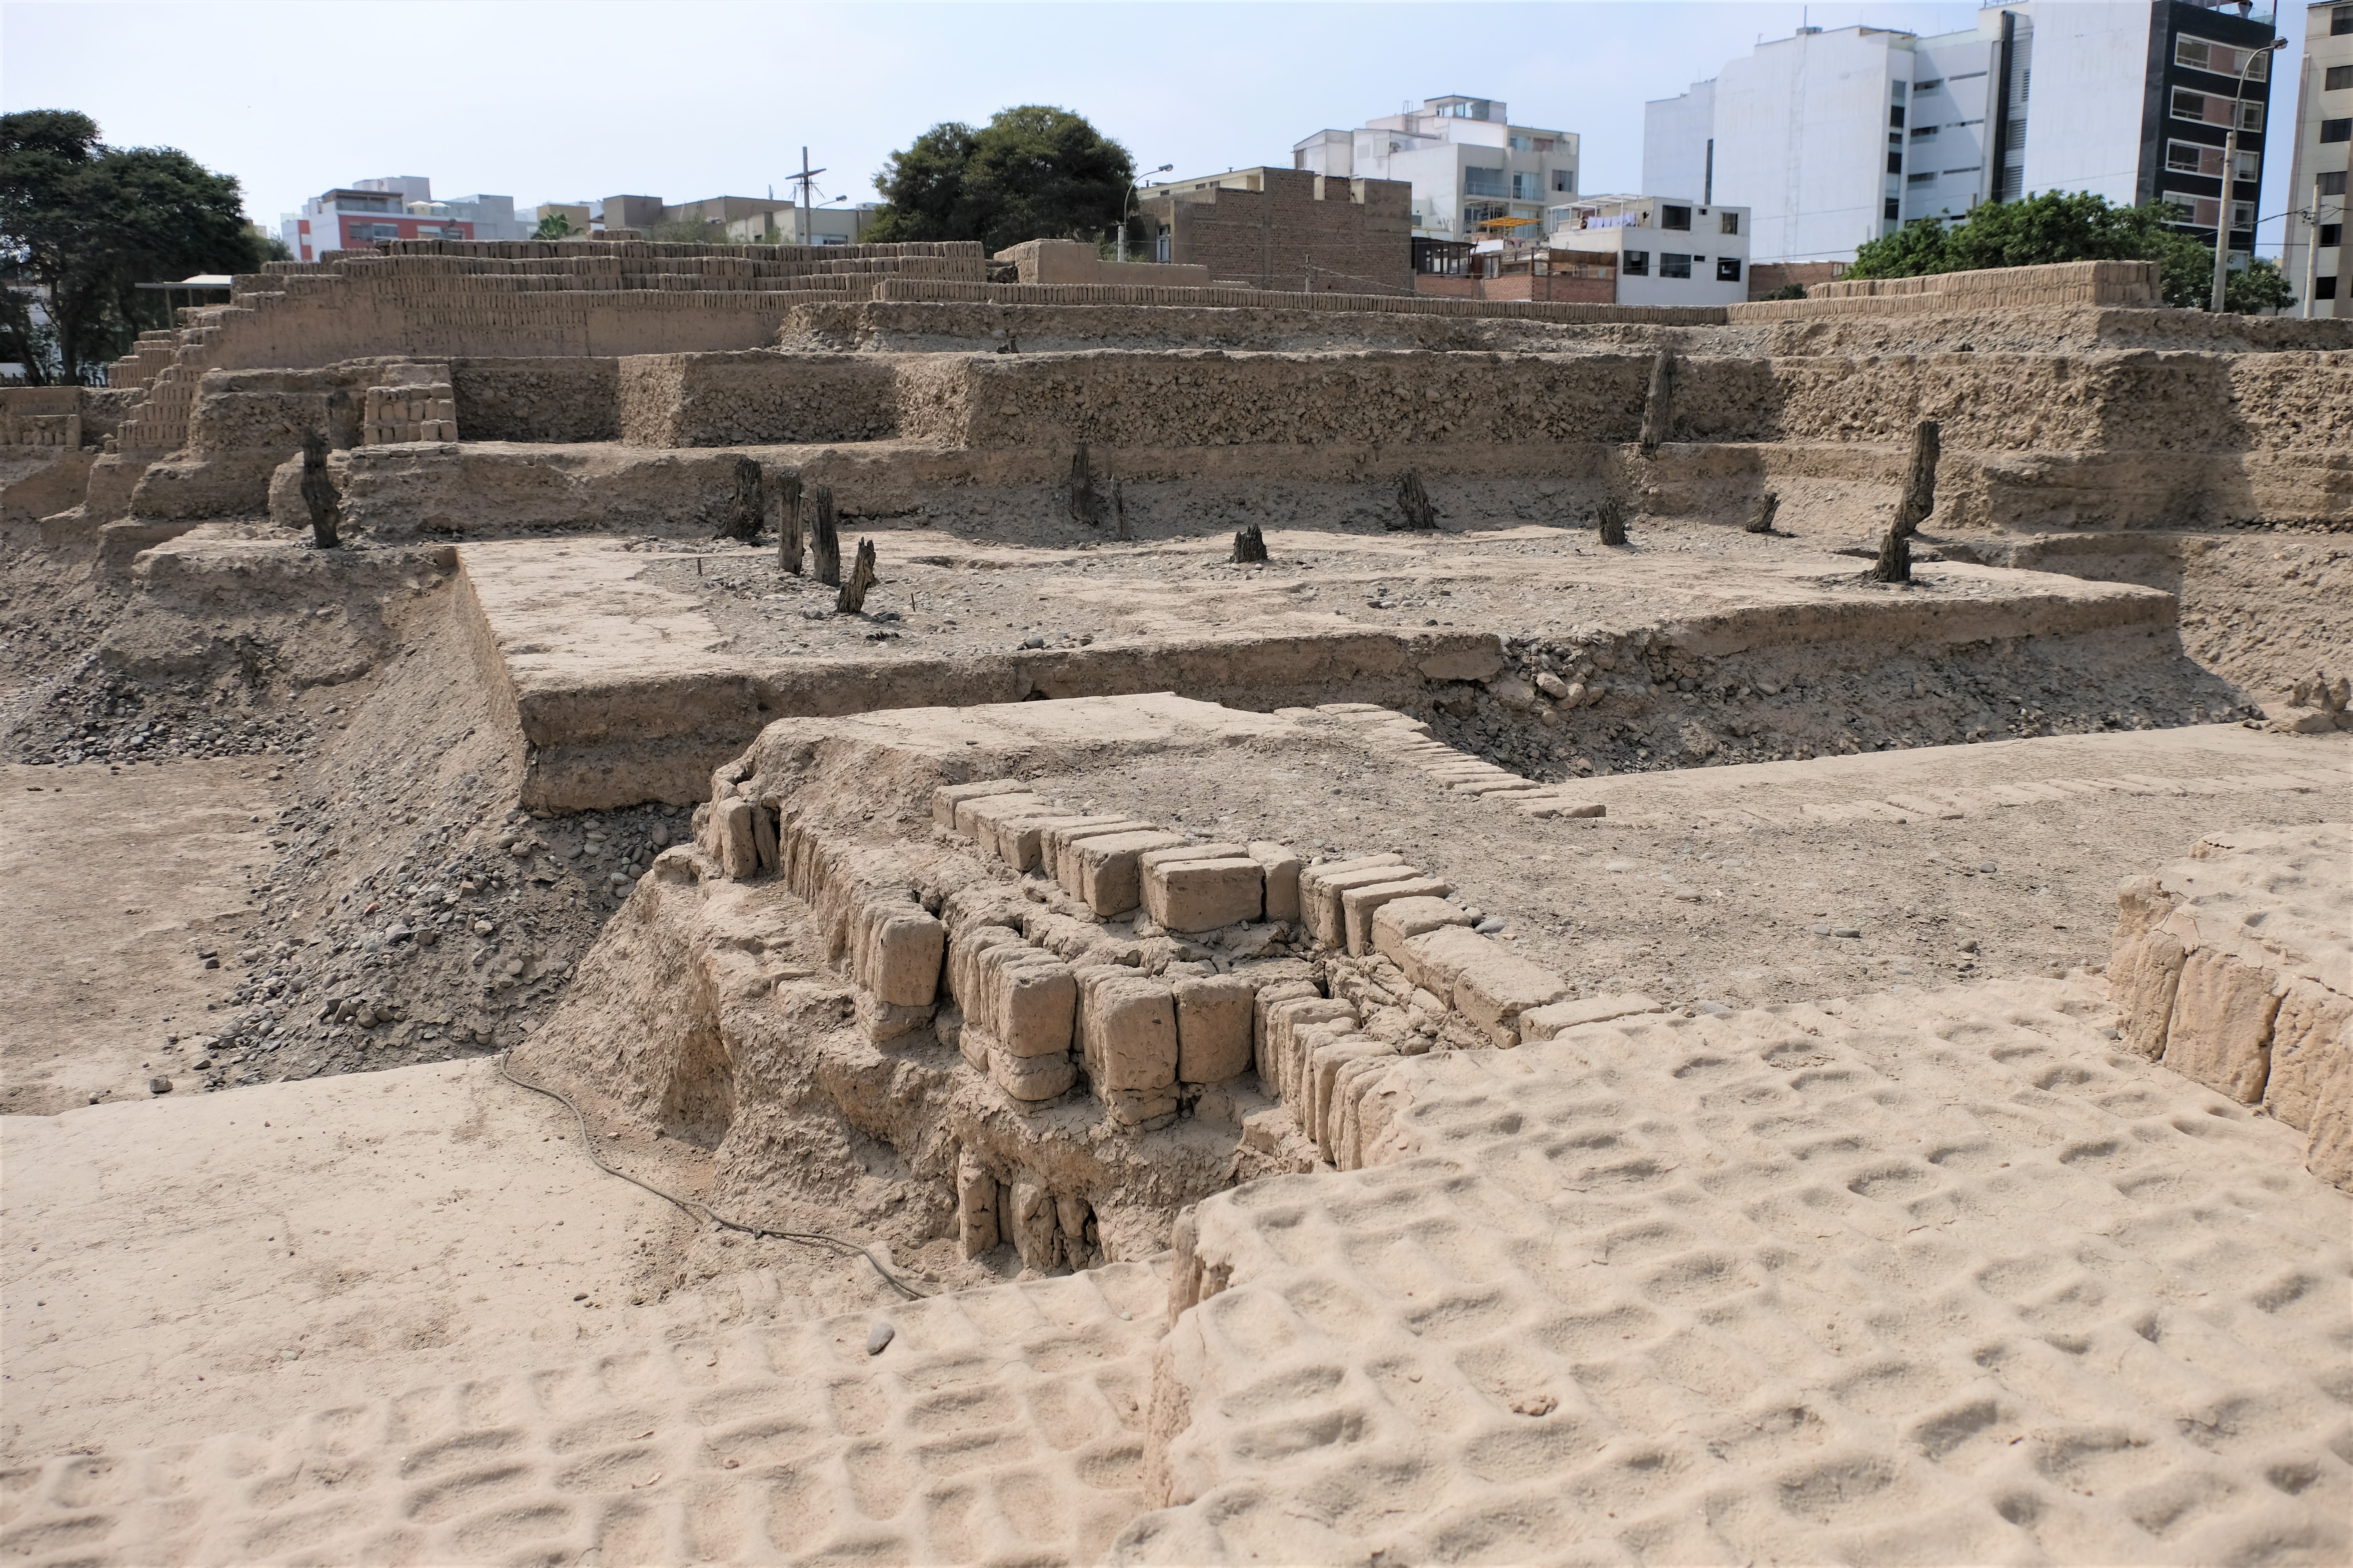
M2353 331L1301 181L0 388L9 1561L2353 1554Z

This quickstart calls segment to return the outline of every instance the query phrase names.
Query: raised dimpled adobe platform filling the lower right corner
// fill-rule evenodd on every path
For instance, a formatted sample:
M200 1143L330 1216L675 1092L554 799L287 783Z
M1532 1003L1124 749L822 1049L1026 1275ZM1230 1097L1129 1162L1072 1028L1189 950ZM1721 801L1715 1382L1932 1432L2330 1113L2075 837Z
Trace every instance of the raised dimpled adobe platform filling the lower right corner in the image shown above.
M2108 1018L1405 1058L1400 1164L1200 1206L1181 1507L1113 1561L2346 1561L2353 1197Z

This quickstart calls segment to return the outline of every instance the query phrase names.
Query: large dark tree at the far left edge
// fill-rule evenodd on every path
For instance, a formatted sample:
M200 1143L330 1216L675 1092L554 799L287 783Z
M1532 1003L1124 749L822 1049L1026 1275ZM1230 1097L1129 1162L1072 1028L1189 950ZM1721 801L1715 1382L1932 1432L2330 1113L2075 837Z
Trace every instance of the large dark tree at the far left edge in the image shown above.
M47 339L28 310L0 310L0 355L28 381L85 381L162 320L136 284L249 273L266 249L235 176L174 148L111 148L82 113L0 115L0 275L40 284L49 310Z

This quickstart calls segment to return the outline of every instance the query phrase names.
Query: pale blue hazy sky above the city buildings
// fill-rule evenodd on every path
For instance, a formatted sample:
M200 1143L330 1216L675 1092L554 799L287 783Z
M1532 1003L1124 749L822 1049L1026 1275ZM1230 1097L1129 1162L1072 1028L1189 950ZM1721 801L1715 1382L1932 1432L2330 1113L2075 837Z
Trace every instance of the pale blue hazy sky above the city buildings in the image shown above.
M0 5L0 106L80 108L120 146L176 146L280 212L372 174L518 205L784 190L871 200L941 120L1059 103L1176 174L1287 165L1322 127L1407 99L1492 96L1584 136L1581 186L1633 190L1642 103L1800 21L1939 33L1946 5L661 5L369 0ZM2304 7L2287 5L2287 59ZM2287 118L2294 75L2282 73ZM2264 216L2287 197L2275 155ZM1737 197L1732 197L1737 200ZM2261 247L2278 252L2280 223Z

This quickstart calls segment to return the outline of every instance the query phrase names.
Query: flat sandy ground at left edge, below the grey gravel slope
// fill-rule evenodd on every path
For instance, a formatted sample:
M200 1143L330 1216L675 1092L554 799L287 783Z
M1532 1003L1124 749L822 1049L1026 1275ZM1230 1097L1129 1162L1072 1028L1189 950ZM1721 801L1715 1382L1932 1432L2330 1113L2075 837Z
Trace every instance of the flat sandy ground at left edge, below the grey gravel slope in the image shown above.
M285 785L266 762L0 766L0 1112L198 1084ZM205 969L212 952L219 969ZM169 1037L181 1044L172 1044Z

